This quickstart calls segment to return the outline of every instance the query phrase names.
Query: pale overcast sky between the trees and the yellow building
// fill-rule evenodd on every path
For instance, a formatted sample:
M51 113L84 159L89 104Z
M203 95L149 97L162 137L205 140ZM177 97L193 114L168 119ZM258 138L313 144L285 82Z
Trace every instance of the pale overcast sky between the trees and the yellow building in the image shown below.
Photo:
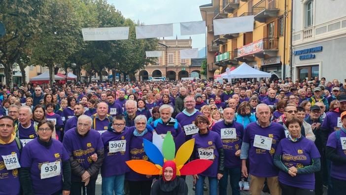
M211 0L107 0L121 11L125 18L145 25L169 24L201 21L200 5L211 3ZM167 39L189 38L180 36L179 24L173 25L174 36ZM166 37L165 37L166 38ZM191 35L192 48L206 46L206 34Z

